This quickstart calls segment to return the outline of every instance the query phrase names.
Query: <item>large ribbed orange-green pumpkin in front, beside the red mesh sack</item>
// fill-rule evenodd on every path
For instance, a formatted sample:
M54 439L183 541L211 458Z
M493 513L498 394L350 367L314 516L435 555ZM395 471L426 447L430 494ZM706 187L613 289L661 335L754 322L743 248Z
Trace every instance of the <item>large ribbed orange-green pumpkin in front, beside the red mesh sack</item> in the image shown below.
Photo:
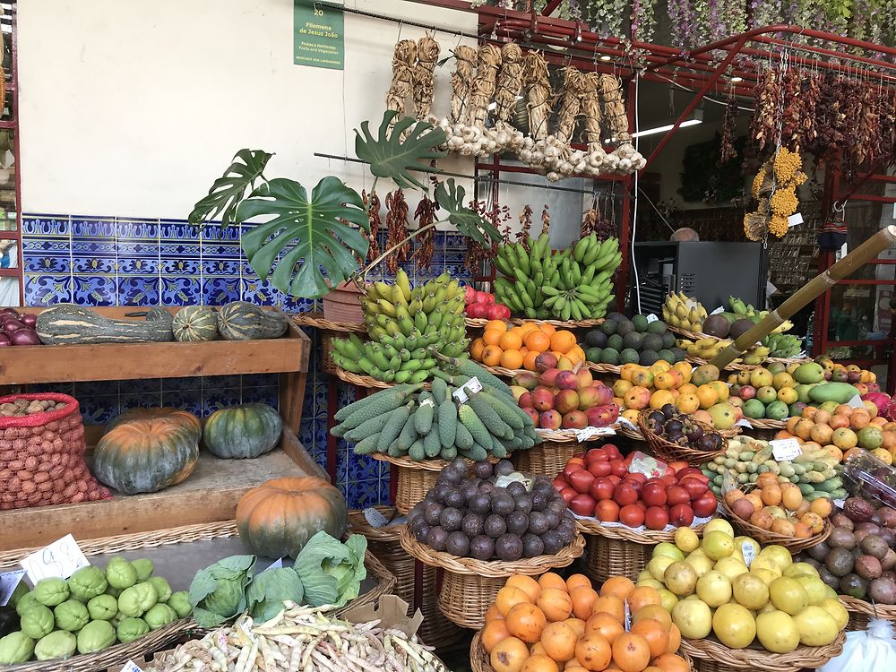
M125 495L177 485L199 460L200 435L196 418L190 418L159 415L118 422L99 439L93 475Z

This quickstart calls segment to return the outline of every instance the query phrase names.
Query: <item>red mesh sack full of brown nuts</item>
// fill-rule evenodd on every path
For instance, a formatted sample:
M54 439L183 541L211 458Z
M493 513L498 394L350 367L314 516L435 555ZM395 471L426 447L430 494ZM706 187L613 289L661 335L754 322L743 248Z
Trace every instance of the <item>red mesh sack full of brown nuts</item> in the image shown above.
M67 394L11 394L0 404L65 403L64 409L0 417L0 511L47 504L109 499L112 493L90 475L78 401Z

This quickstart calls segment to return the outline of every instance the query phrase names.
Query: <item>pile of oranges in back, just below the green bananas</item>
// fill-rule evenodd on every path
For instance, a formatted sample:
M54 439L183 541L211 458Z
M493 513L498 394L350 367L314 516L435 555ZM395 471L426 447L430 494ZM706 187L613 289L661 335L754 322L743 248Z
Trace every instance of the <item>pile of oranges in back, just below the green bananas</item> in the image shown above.
M552 352L557 360L565 357L573 364L585 361L573 332L558 331L544 322L508 328L504 320L490 320L482 336L470 343L470 357L486 366L538 371L535 360L542 352Z

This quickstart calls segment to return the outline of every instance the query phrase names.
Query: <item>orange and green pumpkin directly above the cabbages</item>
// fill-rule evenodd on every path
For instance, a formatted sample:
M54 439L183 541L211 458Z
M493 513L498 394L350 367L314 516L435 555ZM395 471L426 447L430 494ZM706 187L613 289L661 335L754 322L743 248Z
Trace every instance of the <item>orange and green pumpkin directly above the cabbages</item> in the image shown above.
M295 558L320 530L341 538L348 521L345 498L314 476L274 478L253 487L237 504L237 531L259 556Z

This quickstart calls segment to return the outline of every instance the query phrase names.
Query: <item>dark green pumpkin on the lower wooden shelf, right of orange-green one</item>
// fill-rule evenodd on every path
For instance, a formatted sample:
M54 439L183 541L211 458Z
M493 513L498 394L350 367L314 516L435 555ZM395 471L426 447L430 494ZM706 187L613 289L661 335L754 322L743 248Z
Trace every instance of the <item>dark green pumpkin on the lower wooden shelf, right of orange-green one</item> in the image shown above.
M280 443L283 419L267 404L242 404L219 409L205 420L202 443L221 458L252 458Z

